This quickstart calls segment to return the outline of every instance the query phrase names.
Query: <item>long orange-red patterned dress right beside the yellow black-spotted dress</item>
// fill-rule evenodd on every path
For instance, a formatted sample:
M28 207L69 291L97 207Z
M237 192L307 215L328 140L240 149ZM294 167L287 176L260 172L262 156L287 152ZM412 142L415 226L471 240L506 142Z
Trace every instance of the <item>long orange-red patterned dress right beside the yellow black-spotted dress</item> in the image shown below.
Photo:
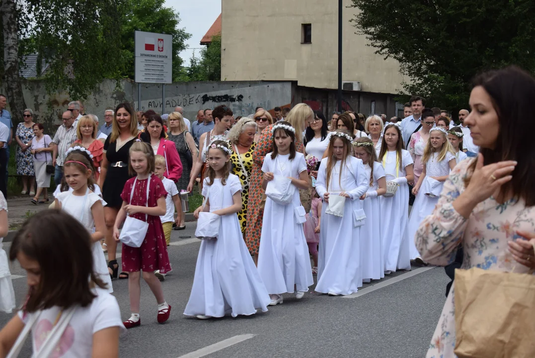
M253 169L251 170L249 184L247 228L245 231L245 243L251 255L258 255L258 248L260 247L260 234L262 232L262 220L264 218L264 209L260 208L260 202L262 201L262 194L264 192L262 189L262 164L264 164L266 154L272 151L272 127L273 125L269 125L264 128L253 151ZM296 141L295 149L299 153L304 153L303 142Z

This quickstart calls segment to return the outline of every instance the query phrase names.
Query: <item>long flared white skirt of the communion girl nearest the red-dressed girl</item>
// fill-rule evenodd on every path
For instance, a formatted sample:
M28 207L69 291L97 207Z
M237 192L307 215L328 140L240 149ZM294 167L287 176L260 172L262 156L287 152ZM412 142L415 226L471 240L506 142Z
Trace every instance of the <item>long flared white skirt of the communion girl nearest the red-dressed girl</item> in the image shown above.
M238 215L221 217L217 240L202 240L186 316L253 315L268 310L268 291L243 241Z

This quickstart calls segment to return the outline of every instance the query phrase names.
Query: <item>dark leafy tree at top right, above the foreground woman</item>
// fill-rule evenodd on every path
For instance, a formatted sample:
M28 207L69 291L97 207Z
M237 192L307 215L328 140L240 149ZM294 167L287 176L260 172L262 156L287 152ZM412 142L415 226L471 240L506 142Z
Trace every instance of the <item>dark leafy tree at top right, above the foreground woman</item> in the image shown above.
M535 72L532 0L352 0L352 20L376 53L408 77L403 89L440 108L465 108L470 81L517 64Z

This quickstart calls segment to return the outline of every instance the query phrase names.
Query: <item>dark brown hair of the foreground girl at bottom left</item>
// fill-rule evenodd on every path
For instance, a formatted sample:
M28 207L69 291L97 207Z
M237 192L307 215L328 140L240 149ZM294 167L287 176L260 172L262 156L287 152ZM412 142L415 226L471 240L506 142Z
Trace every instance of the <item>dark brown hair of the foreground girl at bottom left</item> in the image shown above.
M43 210L26 220L9 250L11 261L22 253L39 263L39 284L30 289L24 309L33 313L93 302L96 294L91 286L106 288L106 284L93 269L91 246L89 231L65 211Z

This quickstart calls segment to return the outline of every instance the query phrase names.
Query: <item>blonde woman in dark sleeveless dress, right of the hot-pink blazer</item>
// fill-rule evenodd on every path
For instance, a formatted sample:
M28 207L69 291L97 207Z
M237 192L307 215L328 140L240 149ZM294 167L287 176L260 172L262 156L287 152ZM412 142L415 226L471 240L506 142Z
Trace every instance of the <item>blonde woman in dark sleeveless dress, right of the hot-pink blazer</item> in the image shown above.
M172 112L169 115L168 121L170 130L167 133L169 135L168 139L174 142L180 162L182 163L182 175L177 181L177 189L180 193L181 191L187 191L192 166L197 161L197 148L195 147L193 136L188 132L186 123L184 123L184 117L182 117L180 112ZM180 198L180 195L178 197ZM184 230L186 228L184 223L185 216L185 212L182 211L175 230Z

